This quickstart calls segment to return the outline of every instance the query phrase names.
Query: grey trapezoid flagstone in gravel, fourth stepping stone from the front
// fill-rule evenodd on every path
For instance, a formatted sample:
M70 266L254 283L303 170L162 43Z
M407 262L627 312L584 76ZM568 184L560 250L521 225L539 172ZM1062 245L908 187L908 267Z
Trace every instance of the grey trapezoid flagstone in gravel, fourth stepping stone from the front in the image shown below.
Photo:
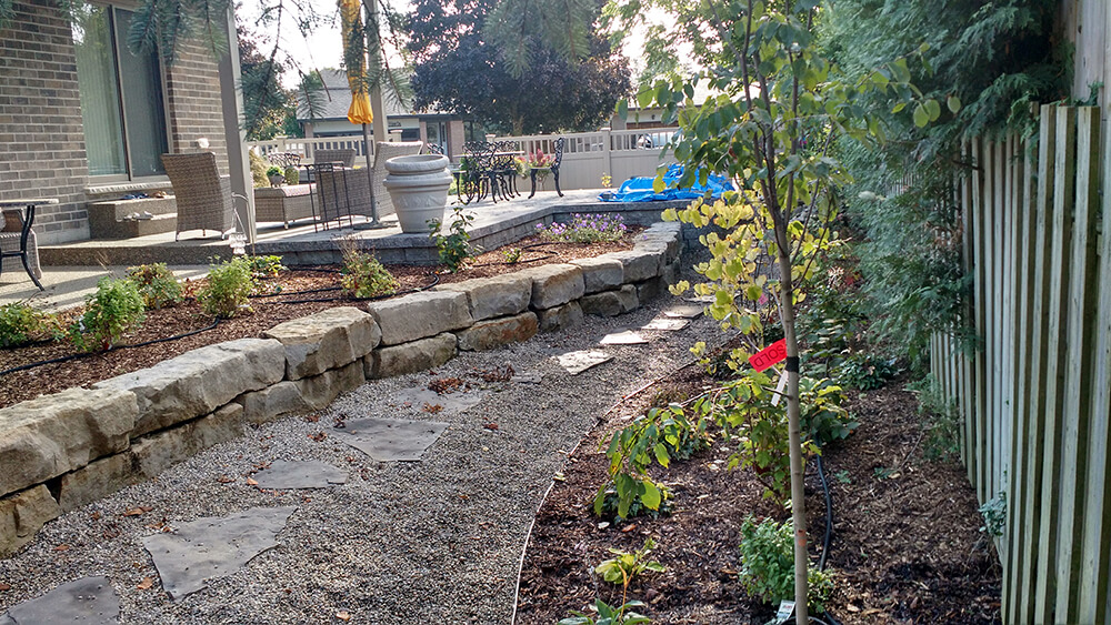
M420 461L447 423L408 419L356 419L336 430L341 441L378 462Z

